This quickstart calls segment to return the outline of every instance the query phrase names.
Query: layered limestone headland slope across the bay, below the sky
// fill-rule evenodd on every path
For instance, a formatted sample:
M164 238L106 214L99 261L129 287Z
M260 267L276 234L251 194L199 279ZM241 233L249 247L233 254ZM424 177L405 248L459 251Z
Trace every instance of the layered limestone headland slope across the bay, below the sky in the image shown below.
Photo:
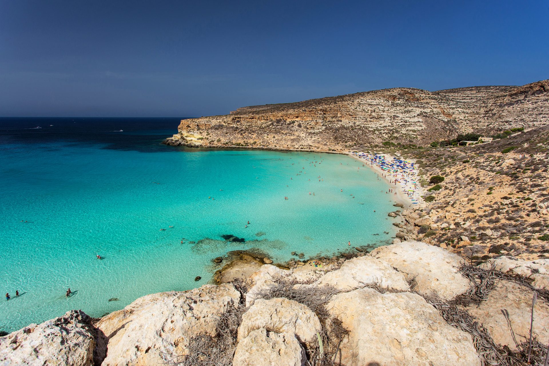
M547 124L549 80L429 92L394 88L239 108L182 120L170 145L347 151L384 141L429 144L458 133Z

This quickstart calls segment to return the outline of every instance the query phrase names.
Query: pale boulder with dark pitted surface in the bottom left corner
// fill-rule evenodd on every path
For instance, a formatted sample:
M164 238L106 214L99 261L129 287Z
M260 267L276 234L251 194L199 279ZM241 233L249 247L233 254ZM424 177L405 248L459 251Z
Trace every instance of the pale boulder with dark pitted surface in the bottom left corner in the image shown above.
M91 366L96 337L91 318L72 310L0 337L0 364Z

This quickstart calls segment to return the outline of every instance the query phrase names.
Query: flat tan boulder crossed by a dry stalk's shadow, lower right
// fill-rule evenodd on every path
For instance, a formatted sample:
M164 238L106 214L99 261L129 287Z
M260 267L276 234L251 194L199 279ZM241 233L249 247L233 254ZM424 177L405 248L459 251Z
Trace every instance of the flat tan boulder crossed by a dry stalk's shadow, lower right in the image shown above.
M479 306L469 306L467 311L489 331L496 343L516 348L513 333L519 344L529 339L533 295L534 291L525 286L500 281L485 301ZM533 335L542 344L549 342L549 305L541 298L534 307Z

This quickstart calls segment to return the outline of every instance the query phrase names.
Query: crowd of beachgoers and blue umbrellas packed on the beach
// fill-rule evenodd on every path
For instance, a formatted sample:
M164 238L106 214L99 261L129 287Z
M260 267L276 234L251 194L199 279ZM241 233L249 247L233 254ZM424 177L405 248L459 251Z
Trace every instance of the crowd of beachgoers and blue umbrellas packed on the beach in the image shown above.
M411 204L419 204L421 185L413 162L380 154L351 153L351 155L364 160L366 165L377 170L383 178L389 181L389 184L394 185L396 187L395 195L400 192L404 198L411 201Z

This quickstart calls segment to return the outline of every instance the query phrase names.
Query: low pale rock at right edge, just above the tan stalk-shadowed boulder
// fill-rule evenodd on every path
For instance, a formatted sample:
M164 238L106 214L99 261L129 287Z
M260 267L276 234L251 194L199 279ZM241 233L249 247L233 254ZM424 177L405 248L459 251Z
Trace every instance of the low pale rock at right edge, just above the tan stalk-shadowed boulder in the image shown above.
M533 280L532 286L536 289L549 289L549 259L525 261L518 258L498 257L489 263L484 263L482 267L488 269L492 263L497 271Z

